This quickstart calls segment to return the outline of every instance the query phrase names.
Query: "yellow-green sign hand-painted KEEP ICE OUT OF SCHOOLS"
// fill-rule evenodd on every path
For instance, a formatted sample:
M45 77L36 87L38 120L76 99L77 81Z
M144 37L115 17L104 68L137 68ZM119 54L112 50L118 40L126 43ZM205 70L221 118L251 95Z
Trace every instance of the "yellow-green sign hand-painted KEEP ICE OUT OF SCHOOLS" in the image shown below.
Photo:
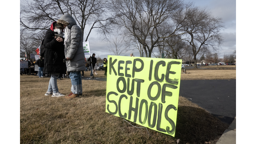
M181 62L109 55L106 112L174 137Z

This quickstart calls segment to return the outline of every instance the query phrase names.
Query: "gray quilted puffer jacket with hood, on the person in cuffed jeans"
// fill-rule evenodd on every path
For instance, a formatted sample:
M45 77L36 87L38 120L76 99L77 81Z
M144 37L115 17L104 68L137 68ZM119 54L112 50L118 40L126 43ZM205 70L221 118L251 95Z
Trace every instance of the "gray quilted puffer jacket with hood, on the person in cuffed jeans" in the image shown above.
M83 50L83 34L81 28L76 24L76 21L69 14L64 14L60 17L69 23L65 33L67 38L65 43L65 57L71 58L66 62L67 72L76 72L86 70L85 56Z

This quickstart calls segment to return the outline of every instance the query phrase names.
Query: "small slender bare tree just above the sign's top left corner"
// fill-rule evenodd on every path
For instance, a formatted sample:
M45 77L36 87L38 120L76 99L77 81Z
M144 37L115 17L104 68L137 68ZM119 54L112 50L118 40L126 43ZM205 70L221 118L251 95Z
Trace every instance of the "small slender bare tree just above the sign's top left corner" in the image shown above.
M125 46L124 40L120 37L118 38L118 35L114 35L109 43L110 46L108 46L108 48L111 55L112 53L114 53L114 55L118 56L128 51L127 47Z

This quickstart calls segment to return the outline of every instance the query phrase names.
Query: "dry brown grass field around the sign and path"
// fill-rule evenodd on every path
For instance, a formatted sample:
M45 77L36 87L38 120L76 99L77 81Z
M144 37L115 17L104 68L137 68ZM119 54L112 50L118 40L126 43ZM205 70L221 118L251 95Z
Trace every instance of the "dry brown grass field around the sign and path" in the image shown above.
M207 66L205 66L207 67ZM104 77L97 71L95 77ZM236 70L188 70L181 80L236 79ZM84 76L89 76L85 72ZM179 97L175 137L141 127L105 112L106 81L82 80L80 98L44 96L48 77L20 76L20 143L22 144L215 144L228 127L209 112ZM70 79L58 80L62 94ZM148 134L149 133L149 134Z

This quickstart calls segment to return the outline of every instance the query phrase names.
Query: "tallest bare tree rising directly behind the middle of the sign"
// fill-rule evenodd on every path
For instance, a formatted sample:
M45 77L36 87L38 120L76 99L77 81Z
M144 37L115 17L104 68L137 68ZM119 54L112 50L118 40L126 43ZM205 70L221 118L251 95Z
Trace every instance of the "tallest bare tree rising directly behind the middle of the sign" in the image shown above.
M112 10L116 26L122 33L132 35L143 47L145 56L151 57L153 48L165 38L179 35L180 25L172 18L182 9L180 0L113 0ZM164 29L170 27L173 29ZM171 35L161 35L159 31L171 31ZM180 34L181 35L181 34Z

